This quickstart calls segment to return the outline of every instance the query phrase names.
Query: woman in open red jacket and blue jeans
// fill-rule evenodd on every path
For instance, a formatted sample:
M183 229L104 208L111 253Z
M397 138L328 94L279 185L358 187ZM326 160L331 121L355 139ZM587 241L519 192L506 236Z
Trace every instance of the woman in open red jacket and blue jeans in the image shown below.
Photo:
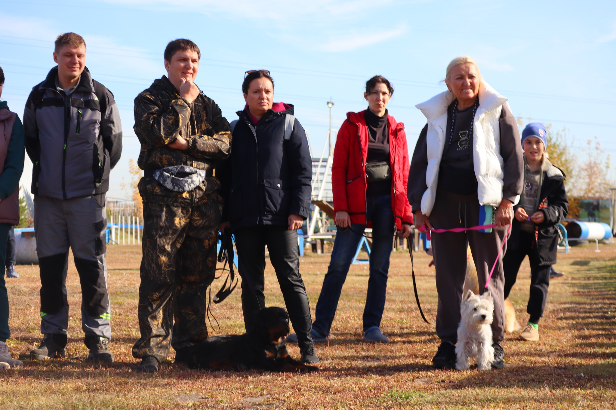
M336 314L342 284L362 239L372 226L370 279L363 310L363 339L388 342L381 333L389 255L394 229L411 233L413 214L407 199L408 149L404 124L387 112L394 87L383 76L366 82L368 109L347 113L336 140L331 184L338 233L312 324L315 342L325 341Z

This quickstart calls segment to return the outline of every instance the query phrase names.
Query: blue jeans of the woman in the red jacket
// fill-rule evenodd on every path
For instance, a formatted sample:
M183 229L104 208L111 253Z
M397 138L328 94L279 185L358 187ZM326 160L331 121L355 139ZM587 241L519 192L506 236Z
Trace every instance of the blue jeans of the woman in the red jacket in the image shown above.
M370 278L366 306L363 309L363 331L381 326L387 290L387 272L394 237L394 212L391 195L366 199L366 221L372 221L372 249L370 252ZM315 321L312 328L323 336L330 334L331 323L336 315L342 285L349 273L349 267L362 239L365 225L352 224L351 229L338 231L331 252L330 266L323 279L321 294L318 296ZM355 232L354 232L355 231Z

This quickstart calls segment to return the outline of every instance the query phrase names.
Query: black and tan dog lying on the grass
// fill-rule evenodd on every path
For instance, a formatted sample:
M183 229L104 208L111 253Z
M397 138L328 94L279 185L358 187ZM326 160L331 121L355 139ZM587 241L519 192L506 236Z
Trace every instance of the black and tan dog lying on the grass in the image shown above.
M193 346L187 365L191 369L262 369L316 371L315 366L294 360L286 350L289 314L281 307L266 307L248 333L208 337Z

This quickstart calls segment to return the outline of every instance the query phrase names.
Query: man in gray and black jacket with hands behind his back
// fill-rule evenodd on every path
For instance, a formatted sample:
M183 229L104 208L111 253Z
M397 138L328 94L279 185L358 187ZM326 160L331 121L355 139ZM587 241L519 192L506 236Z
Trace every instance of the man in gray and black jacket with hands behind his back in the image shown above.
M34 164L31 191L44 335L31 357L66 357L70 247L81 282L88 358L111 362L105 192L122 151L120 114L113 94L92 80L85 66L83 37L60 34L54 61L57 66L34 86L23 113L26 152Z

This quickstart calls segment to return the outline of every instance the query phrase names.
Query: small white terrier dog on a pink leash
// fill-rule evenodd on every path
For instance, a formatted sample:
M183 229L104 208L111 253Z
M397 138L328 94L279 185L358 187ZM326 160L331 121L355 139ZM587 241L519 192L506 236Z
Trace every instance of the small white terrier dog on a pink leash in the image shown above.
M469 290L464 296L460 307L462 318L458 326L456 369L468 369L472 358L477 363L477 369L492 368L494 348L490 325L492 325L493 312L494 299L490 291L479 296Z

